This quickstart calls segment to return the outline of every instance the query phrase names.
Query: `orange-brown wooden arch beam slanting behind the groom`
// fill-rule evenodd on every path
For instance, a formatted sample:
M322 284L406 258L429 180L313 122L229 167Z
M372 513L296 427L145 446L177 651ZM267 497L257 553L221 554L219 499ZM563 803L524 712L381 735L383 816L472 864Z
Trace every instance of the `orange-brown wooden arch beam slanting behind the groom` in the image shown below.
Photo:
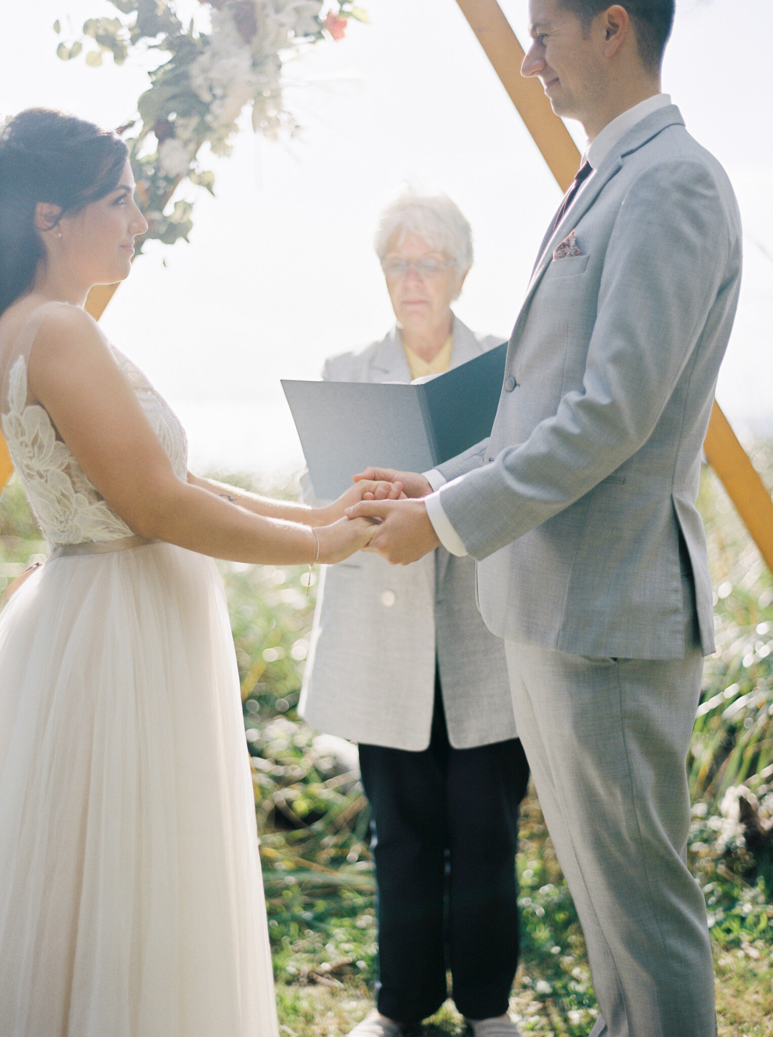
M497 0L457 0L457 3L559 187L566 191L579 168L581 156L564 122L553 113L540 81L521 76L523 48ZM773 501L716 401L704 450L773 571Z

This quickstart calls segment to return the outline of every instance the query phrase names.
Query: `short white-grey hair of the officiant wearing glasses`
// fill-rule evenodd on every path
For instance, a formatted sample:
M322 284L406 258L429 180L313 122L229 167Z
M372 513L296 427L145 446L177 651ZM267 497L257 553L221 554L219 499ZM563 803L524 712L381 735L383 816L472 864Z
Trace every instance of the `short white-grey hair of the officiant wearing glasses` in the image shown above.
M406 234L418 234L431 249L453 259L460 279L473 265L473 229L448 195L408 191L388 205L373 242L378 258L383 259L390 246L399 245Z

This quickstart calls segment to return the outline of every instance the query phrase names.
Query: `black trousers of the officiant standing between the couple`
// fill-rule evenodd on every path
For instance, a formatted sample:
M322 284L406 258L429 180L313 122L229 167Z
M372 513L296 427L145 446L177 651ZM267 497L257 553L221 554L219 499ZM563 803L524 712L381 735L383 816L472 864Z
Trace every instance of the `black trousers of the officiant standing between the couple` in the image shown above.
M373 810L378 1011L405 1024L433 1015L448 970L463 1015L503 1015L518 965L520 741L454 749L436 677L429 748L361 745L360 764Z

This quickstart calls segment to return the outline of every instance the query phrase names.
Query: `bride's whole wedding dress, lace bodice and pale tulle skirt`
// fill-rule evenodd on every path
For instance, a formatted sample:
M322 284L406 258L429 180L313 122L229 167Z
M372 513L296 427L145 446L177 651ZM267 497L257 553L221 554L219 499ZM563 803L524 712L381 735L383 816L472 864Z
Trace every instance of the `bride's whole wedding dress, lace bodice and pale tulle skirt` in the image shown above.
M28 399L58 305L0 343L3 431L52 545L0 614L0 1034L275 1037L223 584L134 536ZM177 418L113 352L184 479Z

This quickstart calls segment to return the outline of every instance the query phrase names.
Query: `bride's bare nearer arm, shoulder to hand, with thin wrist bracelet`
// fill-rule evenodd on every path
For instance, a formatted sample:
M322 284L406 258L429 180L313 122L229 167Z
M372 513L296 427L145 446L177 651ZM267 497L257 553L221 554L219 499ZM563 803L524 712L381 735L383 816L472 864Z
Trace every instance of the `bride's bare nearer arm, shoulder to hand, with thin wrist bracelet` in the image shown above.
M116 365L95 323L60 307L32 347L28 381L60 437L110 507L136 533L216 558L257 563L339 561L372 526L341 520L311 529L255 514L183 482Z

